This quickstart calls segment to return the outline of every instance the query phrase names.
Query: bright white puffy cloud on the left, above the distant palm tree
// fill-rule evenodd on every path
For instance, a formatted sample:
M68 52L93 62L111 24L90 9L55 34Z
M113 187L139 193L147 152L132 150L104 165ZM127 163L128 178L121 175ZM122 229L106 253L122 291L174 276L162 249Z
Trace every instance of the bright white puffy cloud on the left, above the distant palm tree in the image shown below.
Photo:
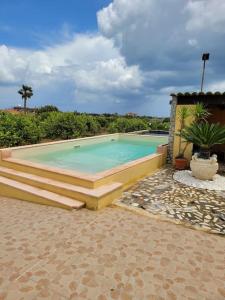
M82 99L76 99L82 102L100 100L103 92L109 101L115 93L135 92L141 87L142 77L138 66L127 66L111 40L78 35L70 42L40 51L1 46L0 81L16 85L25 82L34 90L51 90L60 82L69 83L74 95L82 94Z

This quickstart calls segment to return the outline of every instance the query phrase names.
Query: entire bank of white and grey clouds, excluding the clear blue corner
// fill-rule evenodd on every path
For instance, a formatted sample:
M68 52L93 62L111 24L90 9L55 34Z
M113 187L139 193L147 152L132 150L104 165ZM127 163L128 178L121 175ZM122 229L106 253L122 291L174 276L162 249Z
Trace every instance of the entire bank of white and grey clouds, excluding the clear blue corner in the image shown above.
M43 50L0 46L0 101L25 82L35 105L168 115L171 92L199 90L203 52L206 89L225 89L225 0L113 0L97 18L98 34L65 23Z

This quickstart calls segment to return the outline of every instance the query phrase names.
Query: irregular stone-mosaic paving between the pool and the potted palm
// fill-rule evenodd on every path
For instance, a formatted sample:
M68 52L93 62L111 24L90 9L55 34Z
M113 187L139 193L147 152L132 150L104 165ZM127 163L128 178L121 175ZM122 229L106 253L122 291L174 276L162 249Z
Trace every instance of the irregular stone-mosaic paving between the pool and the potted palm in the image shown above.
M164 220L225 235L225 192L196 189L173 179L167 167L139 181L117 202Z

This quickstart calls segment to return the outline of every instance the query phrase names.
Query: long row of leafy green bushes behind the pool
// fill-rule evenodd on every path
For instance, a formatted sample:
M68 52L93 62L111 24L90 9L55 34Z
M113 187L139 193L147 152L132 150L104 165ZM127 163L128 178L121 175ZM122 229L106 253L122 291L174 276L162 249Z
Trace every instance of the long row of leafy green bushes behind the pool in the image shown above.
M169 119L118 114L60 112L47 105L26 114L0 112L0 147L34 144L104 133L168 130Z

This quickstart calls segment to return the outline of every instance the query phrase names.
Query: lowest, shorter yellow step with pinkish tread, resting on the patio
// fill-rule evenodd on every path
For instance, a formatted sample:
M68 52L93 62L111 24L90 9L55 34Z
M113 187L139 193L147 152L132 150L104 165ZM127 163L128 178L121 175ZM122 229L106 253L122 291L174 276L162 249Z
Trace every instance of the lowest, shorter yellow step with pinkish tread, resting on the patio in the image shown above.
M3 176L0 176L0 195L65 209L80 209L85 205L83 202Z

